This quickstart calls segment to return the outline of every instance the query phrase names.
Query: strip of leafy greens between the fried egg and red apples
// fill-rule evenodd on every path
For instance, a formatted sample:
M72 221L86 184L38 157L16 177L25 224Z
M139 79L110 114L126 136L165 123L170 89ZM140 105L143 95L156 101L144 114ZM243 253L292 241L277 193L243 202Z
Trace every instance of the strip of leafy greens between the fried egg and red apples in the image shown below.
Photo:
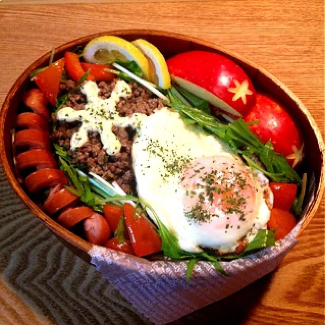
M185 123L197 124L204 131L216 135L227 143L235 152L243 154L247 163L275 182L296 182L301 183L301 179L293 168L287 163L285 157L273 150L270 142L264 144L249 129L243 119L238 119L233 123L225 124L217 120L210 114L202 110L180 104L175 96L170 96L168 106L180 112ZM250 156L256 155L263 163L264 167L255 163Z

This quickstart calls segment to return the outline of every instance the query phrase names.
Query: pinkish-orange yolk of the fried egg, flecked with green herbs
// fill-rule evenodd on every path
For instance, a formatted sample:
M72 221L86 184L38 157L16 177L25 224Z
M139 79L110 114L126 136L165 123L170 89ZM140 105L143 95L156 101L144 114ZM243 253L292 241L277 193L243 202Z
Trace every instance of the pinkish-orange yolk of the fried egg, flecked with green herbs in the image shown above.
M254 209L254 181L243 164L228 156L201 157L181 175L184 211L188 219L240 226ZM224 224L223 224L224 223ZM238 228L239 229L239 228Z

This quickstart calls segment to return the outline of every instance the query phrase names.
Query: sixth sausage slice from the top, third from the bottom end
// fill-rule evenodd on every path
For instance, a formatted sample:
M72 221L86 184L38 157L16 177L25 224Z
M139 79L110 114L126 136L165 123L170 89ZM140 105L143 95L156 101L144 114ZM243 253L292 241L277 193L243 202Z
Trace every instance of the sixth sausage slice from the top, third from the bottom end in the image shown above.
M48 214L54 214L63 208L73 207L79 202L79 197L62 186L53 189L44 202L43 209Z

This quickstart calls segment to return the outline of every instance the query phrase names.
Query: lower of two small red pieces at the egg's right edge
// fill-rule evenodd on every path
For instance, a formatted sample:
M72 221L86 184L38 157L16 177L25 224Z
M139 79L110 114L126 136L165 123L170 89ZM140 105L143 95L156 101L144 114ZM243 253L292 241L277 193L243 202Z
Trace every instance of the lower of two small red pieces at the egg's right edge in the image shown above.
M284 238L296 225L295 216L289 211L282 209L272 209L268 228L275 230L275 239L279 240Z

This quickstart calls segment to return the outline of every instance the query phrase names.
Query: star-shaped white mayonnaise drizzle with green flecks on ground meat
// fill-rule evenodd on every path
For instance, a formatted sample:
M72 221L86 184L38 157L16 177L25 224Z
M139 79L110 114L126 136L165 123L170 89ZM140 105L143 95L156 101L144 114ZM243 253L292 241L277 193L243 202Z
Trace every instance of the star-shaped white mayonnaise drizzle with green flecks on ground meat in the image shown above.
M88 131L96 131L101 135L103 148L108 154L119 152L121 143L112 132L113 125L137 128L139 123L146 118L146 115L137 113L132 117L121 117L116 112L116 105L120 98L127 99L131 96L131 87L124 80L119 80L111 97L105 100L99 98L100 89L93 81L85 82L80 90L87 98L84 110L76 111L71 107L63 107L56 113L57 120L82 122L78 132L72 135L71 149L81 147L88 141Z

